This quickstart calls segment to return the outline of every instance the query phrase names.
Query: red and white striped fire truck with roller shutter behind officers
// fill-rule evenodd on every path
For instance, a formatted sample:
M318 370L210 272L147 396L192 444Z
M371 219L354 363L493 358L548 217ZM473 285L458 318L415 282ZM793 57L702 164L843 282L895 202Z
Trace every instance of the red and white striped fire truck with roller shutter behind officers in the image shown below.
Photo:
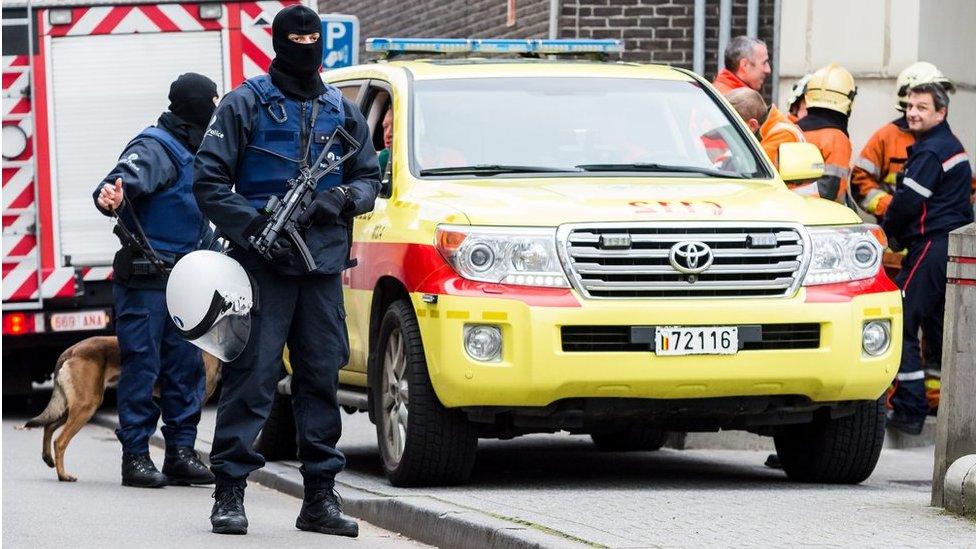
M3 392L113 331L112 222L92 203L125 144L198 72L221 93L265 72L297 0L3 4ZM316 8L314 1L306 1Z

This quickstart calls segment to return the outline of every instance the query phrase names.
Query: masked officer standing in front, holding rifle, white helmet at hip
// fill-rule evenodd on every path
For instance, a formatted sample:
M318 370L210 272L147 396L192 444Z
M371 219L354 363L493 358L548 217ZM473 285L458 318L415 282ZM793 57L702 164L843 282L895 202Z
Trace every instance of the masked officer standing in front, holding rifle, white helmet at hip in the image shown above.
M305 483L296 526L326 534L359 533L356 522L342 514L334 492L335 476L345 465L335 447L342 429L338 371L349 356L340 273L351 264L352 218L373 209L379 166L362 113L322 82L320 33L319 17L309 8L295 5L278 12L268 74L225 96L196 157L193 190L200 209L231 240L229 255L256 286L249 341L223 370L210 454L217 478L210 517L216 533L247 532L246 479L264 465L254 439L271 410L286 343ZM266 223L259 209L269 196L285 194L286 181L318 158L339 125L363 146L319 181L314 202L299 220L311 224L304 236L316 269L305 273L287 244L272 264L248 240ZM337 156L343 153L339 147Z

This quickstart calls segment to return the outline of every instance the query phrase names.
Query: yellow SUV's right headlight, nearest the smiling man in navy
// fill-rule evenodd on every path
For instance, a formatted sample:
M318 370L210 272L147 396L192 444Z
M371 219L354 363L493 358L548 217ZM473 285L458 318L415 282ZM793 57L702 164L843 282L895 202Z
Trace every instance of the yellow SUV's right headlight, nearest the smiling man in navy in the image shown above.
M881 268L884 233L877 225L810 229L813 251L804 286L872 278Z

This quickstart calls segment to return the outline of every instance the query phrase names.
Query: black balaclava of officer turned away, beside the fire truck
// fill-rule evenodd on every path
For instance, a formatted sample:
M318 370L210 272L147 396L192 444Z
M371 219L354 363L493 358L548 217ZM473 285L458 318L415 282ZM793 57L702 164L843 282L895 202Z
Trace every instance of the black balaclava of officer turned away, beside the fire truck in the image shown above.
M181 74L170 84L169 111L159 117L159 125L196 152L216 109L215 97L213 80L195 72Z

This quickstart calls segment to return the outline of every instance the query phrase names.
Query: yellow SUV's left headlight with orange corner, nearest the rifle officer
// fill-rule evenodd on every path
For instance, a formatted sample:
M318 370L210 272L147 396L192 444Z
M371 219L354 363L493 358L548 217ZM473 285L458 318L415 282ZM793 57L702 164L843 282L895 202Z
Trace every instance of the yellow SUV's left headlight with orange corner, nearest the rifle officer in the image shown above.
M440 225L434 238L444 259L468 280L569 287L554 228Z

